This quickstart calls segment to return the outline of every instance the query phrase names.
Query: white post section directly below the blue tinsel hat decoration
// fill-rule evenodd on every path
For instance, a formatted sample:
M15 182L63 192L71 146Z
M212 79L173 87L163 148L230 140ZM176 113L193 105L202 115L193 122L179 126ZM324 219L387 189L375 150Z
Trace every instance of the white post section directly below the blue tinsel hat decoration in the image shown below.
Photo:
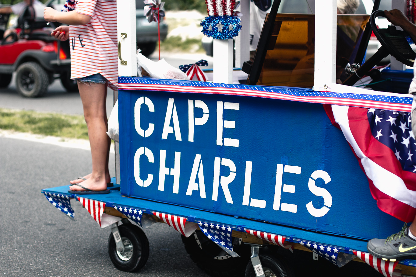
M233 83L233 39L214 39L214 83Z

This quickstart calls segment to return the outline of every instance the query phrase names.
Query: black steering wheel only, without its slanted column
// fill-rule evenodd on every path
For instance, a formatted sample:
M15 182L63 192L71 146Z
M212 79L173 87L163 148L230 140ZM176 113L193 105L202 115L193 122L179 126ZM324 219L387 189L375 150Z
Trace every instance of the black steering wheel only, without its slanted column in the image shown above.
M394 56L398 61L408 66L413 66L416 53L411 49L406 40L408 35L404 31L397 30L395 26L391 25L387 29L379 29L376 26L376 17L386 17L384 11L377 10L371 14L370 25L374 34L381 43L381 46Z

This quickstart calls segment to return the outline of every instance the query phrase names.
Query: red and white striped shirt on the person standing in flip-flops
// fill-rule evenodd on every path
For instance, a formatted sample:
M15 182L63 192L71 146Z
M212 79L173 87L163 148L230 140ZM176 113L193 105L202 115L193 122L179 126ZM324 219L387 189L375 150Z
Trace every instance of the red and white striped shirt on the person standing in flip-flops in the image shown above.
M101 74L111 88L117 87L116 0L78 0L77 13L88 15L86 25L69 27L71 79Z

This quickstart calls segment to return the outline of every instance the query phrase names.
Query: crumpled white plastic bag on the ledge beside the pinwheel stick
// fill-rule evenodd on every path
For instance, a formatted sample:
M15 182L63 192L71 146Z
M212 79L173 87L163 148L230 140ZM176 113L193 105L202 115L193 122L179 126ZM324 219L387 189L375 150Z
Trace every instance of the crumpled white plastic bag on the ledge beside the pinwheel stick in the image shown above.
M146 70L151 78L186 80L186 74L168 64L165 59L152 61L137 50L137 76L141 77L141 68Z

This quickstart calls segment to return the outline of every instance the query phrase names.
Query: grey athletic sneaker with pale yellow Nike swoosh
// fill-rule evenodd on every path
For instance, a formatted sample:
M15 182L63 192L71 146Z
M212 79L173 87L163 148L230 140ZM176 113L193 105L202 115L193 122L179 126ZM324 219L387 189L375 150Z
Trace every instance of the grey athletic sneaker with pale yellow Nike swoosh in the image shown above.
M416 240L408 235L409 227L404 223L397 234L389 236L386 240L373 238L367 243L367 250L383 260L404 260L416 258Z

